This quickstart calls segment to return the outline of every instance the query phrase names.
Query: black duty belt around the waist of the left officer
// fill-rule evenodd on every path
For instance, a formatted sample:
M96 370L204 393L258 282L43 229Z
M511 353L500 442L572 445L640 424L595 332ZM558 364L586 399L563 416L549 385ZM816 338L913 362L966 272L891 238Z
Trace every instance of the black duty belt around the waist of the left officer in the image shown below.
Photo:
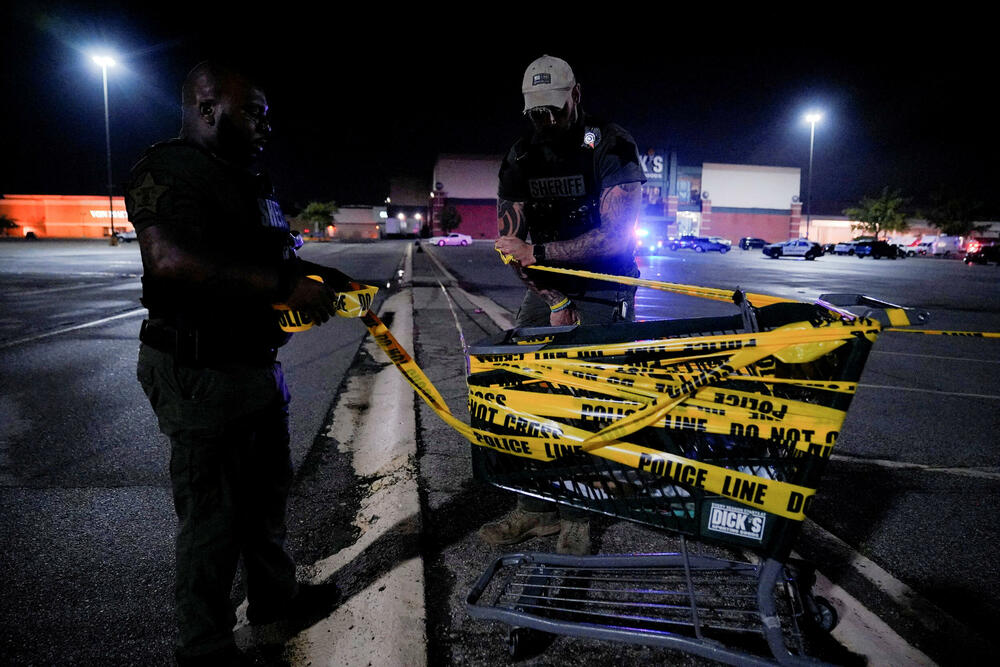
M278 356L276 348L250 346L239 336L177 327L162 320L143 320L139 340L153 349L173 355L174 360L183 366L263 366L274 363Z

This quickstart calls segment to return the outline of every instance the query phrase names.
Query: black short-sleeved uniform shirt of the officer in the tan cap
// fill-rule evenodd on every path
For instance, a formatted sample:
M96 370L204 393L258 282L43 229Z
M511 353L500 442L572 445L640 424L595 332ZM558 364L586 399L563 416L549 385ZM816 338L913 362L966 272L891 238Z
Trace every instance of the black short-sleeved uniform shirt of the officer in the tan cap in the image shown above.
M639 151L619 125L584 114L576 126L552 141L521 137L500 165L500 199L525 203L532 243L576 238L601 224L600 196L605 188L644 183ZM629 232L631 233L631 232ZM631 240L631 239L630 239ZM638 275L633 252L592 257L581 262L546 261L550 266L616 275ZM557 274L532 274L539 285L576 293L607 289L607 282Z

